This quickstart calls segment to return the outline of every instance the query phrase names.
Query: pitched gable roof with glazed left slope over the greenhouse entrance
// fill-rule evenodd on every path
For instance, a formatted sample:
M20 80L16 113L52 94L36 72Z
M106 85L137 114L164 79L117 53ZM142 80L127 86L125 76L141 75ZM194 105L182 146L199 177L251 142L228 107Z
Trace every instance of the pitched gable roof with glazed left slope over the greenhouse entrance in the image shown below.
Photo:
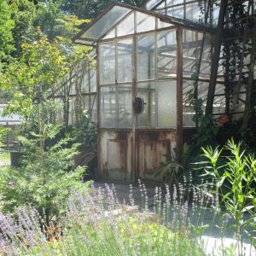
M210 31L208 27L189 20L181 20L168 15L161 15L146 9L130 6L125 3L112 3L89 25L84 26L84 28L73 38L73 43L95 46L96 42L104 38L104 36L111 31L113 26L117 25L120 20L125 18L126 15L129 15L134 10L145 15L154 16L159 18L161 21L171 23L174 26L186 26L200 31Z

